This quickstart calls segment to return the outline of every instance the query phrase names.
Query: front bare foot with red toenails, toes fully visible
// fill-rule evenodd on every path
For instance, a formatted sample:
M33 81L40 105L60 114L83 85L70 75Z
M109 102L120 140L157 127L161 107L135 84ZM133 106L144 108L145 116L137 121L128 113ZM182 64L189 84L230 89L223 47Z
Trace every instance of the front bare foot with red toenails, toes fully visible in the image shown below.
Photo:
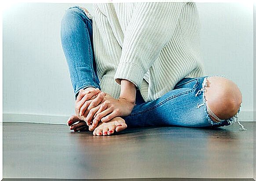
M106 136L113 134L115 131L120 132L125 128L127 128L127 125L124 119L122 119L121 117L114 117L108 122L100 122L92 134L94 136Z

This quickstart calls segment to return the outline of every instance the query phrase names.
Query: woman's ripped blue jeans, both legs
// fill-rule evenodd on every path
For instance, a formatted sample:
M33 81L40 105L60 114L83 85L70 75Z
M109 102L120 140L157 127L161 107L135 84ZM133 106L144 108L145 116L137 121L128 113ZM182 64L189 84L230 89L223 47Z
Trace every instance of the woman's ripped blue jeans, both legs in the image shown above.
M93 54L92 20L80 7L70 7L62 18L61 41L75 96L77 97L82 88L98 87L100 89ZM136 90L136 105L129 116L122 118L128 127L214 128L238 122L241 106L238 113L230 119L220 119L216 122L209 116L209 108L204 98L208 77L185 77L173 90L149 102L145 102L139 90ZM211 112L212 114L214 113Z

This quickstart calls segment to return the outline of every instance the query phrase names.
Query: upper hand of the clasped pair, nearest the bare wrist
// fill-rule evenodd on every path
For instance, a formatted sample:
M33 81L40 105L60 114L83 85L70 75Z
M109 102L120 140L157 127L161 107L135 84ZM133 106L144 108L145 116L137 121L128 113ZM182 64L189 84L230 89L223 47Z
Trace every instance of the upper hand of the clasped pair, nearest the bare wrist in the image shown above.
M106 93L105 93L106 94ZM92 124L89 126L89 130L94 130L99 121L107 122L117 116L129 116L132 112L132 109L135 105L134 101L129 101L125 98L115 99L106 94L102 100L102 104L91 109L90 113L87 116L87 121Z

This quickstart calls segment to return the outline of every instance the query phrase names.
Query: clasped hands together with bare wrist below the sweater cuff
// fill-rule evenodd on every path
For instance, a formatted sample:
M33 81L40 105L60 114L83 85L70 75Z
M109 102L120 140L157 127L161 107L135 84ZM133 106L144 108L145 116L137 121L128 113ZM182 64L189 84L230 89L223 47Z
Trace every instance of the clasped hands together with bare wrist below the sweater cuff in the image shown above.
M89 126L90 131L97 127L100 120L107 122L114 117L129 116L131 114L135 105L135 84L128 80L121 80L119 99L115 99L106 93L99 94L99 90L95 90L96 92L91 92L87 95L80 94L79 92L77 97L76 113L81 117L83 116L83 120ZM90 99L93 96L96 96L96 98L91 101Z

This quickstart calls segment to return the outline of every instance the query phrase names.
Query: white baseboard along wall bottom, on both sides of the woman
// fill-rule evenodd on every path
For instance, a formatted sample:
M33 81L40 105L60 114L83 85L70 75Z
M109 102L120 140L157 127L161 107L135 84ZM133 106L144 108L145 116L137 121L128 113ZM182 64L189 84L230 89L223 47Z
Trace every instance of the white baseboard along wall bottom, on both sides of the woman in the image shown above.
M70 115L71 116L71 115ZM51 116L24 113L3 113L3 122L65 124L69 116ZM241 111L239 121L253 121L252 111Z

